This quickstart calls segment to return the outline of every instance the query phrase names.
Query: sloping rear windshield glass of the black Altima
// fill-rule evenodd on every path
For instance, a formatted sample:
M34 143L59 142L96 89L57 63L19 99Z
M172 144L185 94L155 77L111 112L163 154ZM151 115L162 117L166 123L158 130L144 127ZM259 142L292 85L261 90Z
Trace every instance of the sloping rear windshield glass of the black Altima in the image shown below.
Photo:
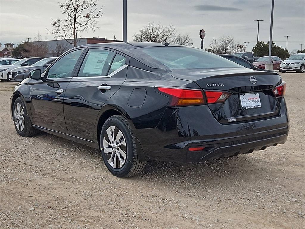
M156 66L155 64L150 63L149 59L151 58L149 57L152 57L152 59L171 70L189 68L242 68L239 64L221 56L191 47L161 46L139 48L134 49L134 51L141 56L141 61L149 67ZM146 60L145 54L148 57Z

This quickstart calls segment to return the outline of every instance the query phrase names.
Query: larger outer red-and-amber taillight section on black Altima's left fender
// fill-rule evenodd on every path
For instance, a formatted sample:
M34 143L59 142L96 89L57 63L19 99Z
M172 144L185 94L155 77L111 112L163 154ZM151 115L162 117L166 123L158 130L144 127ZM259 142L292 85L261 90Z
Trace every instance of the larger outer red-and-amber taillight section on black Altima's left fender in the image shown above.
M170 106L181 107L206 104L202 90L157 87L160 92L172 96Z

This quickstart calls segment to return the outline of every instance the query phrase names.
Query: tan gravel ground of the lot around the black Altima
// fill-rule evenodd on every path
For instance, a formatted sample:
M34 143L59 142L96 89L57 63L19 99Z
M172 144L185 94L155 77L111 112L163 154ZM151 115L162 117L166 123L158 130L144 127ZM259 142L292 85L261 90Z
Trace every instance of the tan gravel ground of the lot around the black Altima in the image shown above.
M42 133L17 135L16 83L0 82L0 228L304 228L304 79L287 82L284 145L205 163L149 162L111 175L99 151Z

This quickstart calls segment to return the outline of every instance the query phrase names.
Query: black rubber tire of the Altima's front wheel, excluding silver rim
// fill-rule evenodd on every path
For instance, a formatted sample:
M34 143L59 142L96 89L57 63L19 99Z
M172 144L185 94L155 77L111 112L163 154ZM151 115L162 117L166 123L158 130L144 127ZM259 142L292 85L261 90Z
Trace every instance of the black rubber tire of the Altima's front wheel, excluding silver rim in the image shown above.
M24 123L23 123L23 128L21 129L18 129L17 127L17 118L15 118L15 108L17 110L17 107L19 106L18 104L20 104L21 108L22 108L22 111L23 111L23 118L24 118ZM14 105L13 105L13 110L12 110L12 113L13 113L13 120L14 120L14 125L15 125L15 129L16 129L16 132L20 135L20 136L23 136L23 137L29 137L29 136L34 136L36 135L37 133L39 133L39 131L37 129L34 129L32 127L32 122L30 120L30 117L27 113L27 108L23 102L23 100L21 99L21 97L18 97L15 102L14 102ZM20 122L20 121L19 121ZM22 120L21 120L22 122Z

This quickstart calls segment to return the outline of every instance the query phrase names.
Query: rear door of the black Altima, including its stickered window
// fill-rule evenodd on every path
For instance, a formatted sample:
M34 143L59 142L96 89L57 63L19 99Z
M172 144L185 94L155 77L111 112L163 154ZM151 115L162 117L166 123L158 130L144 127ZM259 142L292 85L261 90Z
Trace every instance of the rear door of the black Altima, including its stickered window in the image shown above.
M90 48L78 74L66 88L64 113L68 134L93 141L103 104L116 93L127 74L129 58L110 49Z

